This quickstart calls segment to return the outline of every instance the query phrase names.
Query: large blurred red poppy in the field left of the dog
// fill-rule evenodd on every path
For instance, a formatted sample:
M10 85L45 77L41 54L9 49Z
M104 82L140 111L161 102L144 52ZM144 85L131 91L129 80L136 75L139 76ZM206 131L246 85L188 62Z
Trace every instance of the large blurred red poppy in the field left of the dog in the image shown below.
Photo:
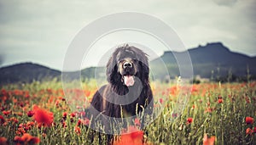
M45 109L39 109L38 106L33 107L34 112L34 120L38 122L38 124L43 125L52 125L54 120L54 115L52 112L46 111Z

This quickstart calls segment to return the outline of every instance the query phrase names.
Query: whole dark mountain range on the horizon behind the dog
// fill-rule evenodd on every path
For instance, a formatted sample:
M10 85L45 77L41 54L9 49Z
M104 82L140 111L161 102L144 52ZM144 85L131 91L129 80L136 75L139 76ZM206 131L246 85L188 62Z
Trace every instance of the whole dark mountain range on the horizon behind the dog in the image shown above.
M192 62L194 75L205 78L247 77L249 74L256 75L256 57L249 57L241 53L231 52L221 42L207 43L188 50ZM166 51L160 58L149 63L151 75L154 79L165 80L166 77L180 75L175 56L183 56L185 52ZM165 64L165 65L163 65ZM186 67L186 66L185 66ZM80 71L65 72L68 79L102 78L106 79L105 67L90 67ZM167 70L167 73L166 71ZM153 77L153 76L151 76ZM57 78L61 80L61 71L52 70L39 64L23 63L0 68L0 86L15 82L44 81Z

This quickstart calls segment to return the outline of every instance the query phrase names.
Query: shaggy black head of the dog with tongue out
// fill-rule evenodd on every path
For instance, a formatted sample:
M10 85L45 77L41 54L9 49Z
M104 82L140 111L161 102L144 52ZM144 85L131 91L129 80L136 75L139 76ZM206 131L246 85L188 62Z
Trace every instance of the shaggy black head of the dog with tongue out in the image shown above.
M118 47L108 60L107 79L113 85L133 86L135 76L148 83L148 74L147 54L137 47Z

